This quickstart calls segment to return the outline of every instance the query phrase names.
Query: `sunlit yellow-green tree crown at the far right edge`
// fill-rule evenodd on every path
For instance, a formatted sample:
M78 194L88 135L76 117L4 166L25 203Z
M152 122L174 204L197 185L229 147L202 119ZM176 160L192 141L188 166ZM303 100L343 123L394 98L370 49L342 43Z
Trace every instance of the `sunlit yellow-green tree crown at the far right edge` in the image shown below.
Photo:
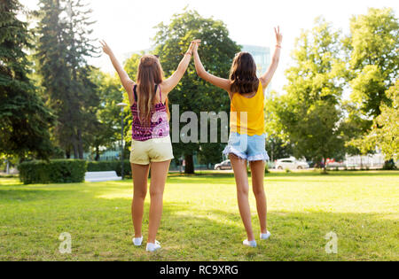
M346 38L352 100L365 118L373 120L380 106L390 105L386 91L399 71L399 21L391 8L370 8L366 15L350 19Z

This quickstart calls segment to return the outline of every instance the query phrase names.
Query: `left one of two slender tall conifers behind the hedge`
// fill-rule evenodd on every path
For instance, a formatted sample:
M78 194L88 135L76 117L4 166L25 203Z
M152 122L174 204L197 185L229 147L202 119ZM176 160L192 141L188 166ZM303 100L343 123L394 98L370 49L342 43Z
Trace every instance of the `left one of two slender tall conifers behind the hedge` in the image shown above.
M70 158L71 151L78 157L77 138L74 124L78 122L74 107L74 97L70 92L71 73L66 66L67 47L65 43L66 23L60 20L63 9L59 0L41 0L38 11L37 33L37 72L41 75L47 103L58 118L53 129L55 143Z

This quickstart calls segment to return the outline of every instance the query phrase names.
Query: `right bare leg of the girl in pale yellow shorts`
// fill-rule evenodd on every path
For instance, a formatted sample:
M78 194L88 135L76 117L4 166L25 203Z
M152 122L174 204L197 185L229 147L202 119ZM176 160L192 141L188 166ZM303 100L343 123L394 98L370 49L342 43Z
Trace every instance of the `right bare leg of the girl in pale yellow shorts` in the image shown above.
M170 160L161 163L151 163L150 184L150 224L148 227L148 243L155 243L155 237L160 228L160 218L163 208L163 191L168 176Z

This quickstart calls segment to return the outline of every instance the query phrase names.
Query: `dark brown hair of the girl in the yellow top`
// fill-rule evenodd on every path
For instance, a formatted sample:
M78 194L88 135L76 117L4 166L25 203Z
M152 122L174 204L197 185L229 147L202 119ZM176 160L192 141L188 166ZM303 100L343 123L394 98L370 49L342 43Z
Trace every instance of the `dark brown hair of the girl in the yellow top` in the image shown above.
M239 52L233 60L230 70L231 92L251 93L259 87L259 79L256 76L256 64L254 58L248 52Z

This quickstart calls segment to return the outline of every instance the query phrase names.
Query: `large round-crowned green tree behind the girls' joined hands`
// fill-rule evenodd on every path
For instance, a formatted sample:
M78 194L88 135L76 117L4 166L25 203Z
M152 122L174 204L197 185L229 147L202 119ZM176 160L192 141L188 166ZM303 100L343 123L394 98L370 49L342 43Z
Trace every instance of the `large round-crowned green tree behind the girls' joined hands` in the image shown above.
M195 11L184 11L176 14L170 24L163 22L157 27L154 38L155 54L160 56L161 65L168 76L176 70L184 51L193 39L201 39L200 56L210 73L227 77L232 58L240 47L229 37L229 32L222 21L205 19ZM184 112L195 112L200 119L200 112L228 112L230 110L229 96L222 89L217 89L202 81L196 74L193 63L187 74L170 95L170 102L179 105L179 117ZM179 121L180 122L180 121ZM186 123L181 123L179 130ZM172 124L173 128L173 124ZM219 131L220 132L220 131ZM222 158L223 143L173 143L176 158L184 157L185 173L193 174L193 155L196 152L207 152ZM215 160L215 157L212 158Z

